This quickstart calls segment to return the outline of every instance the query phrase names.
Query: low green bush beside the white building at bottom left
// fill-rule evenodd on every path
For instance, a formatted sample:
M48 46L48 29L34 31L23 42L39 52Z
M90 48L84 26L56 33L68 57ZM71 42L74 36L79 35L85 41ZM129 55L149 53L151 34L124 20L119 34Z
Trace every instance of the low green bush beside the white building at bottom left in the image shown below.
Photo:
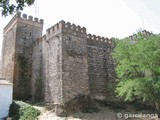
M13 101L9 110L12 120L37 120L40 111L22 101Z

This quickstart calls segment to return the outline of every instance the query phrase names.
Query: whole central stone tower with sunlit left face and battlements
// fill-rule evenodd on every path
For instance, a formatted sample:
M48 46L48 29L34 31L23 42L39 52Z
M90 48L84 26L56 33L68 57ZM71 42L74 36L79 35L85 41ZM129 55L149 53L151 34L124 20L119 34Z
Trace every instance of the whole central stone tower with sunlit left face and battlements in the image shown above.
M89 95L86 44L86 28L69 22L60 21L46 31L43 58L47 103L63 106L79 95Z

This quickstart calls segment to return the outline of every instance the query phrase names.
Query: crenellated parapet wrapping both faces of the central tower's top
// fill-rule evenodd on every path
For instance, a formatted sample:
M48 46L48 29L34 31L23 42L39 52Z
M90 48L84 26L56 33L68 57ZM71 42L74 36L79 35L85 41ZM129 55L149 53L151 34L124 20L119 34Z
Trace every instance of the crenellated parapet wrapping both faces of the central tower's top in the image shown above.
M84 37L86 36L86 28L61 20L59 23L46 30L46 37L50 39L60 33Z

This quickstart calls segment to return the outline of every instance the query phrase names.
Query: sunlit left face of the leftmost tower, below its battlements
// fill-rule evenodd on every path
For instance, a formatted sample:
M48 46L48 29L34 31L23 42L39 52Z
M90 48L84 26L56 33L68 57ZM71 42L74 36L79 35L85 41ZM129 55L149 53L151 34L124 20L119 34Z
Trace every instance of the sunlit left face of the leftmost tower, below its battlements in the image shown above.
M15 64L16 29L17 25L13 25L8 31L4 31L2 46L2 78L11 80L12 83Z

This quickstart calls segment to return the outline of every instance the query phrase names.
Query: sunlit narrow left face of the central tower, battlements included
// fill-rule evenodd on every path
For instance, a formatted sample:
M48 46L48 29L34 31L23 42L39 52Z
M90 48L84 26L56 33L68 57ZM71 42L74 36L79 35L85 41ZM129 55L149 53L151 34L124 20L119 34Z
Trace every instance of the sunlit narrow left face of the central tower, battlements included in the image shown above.
M45 74L45 102L62 104L62 33L61 24L46 31L43 42L43 64Z

